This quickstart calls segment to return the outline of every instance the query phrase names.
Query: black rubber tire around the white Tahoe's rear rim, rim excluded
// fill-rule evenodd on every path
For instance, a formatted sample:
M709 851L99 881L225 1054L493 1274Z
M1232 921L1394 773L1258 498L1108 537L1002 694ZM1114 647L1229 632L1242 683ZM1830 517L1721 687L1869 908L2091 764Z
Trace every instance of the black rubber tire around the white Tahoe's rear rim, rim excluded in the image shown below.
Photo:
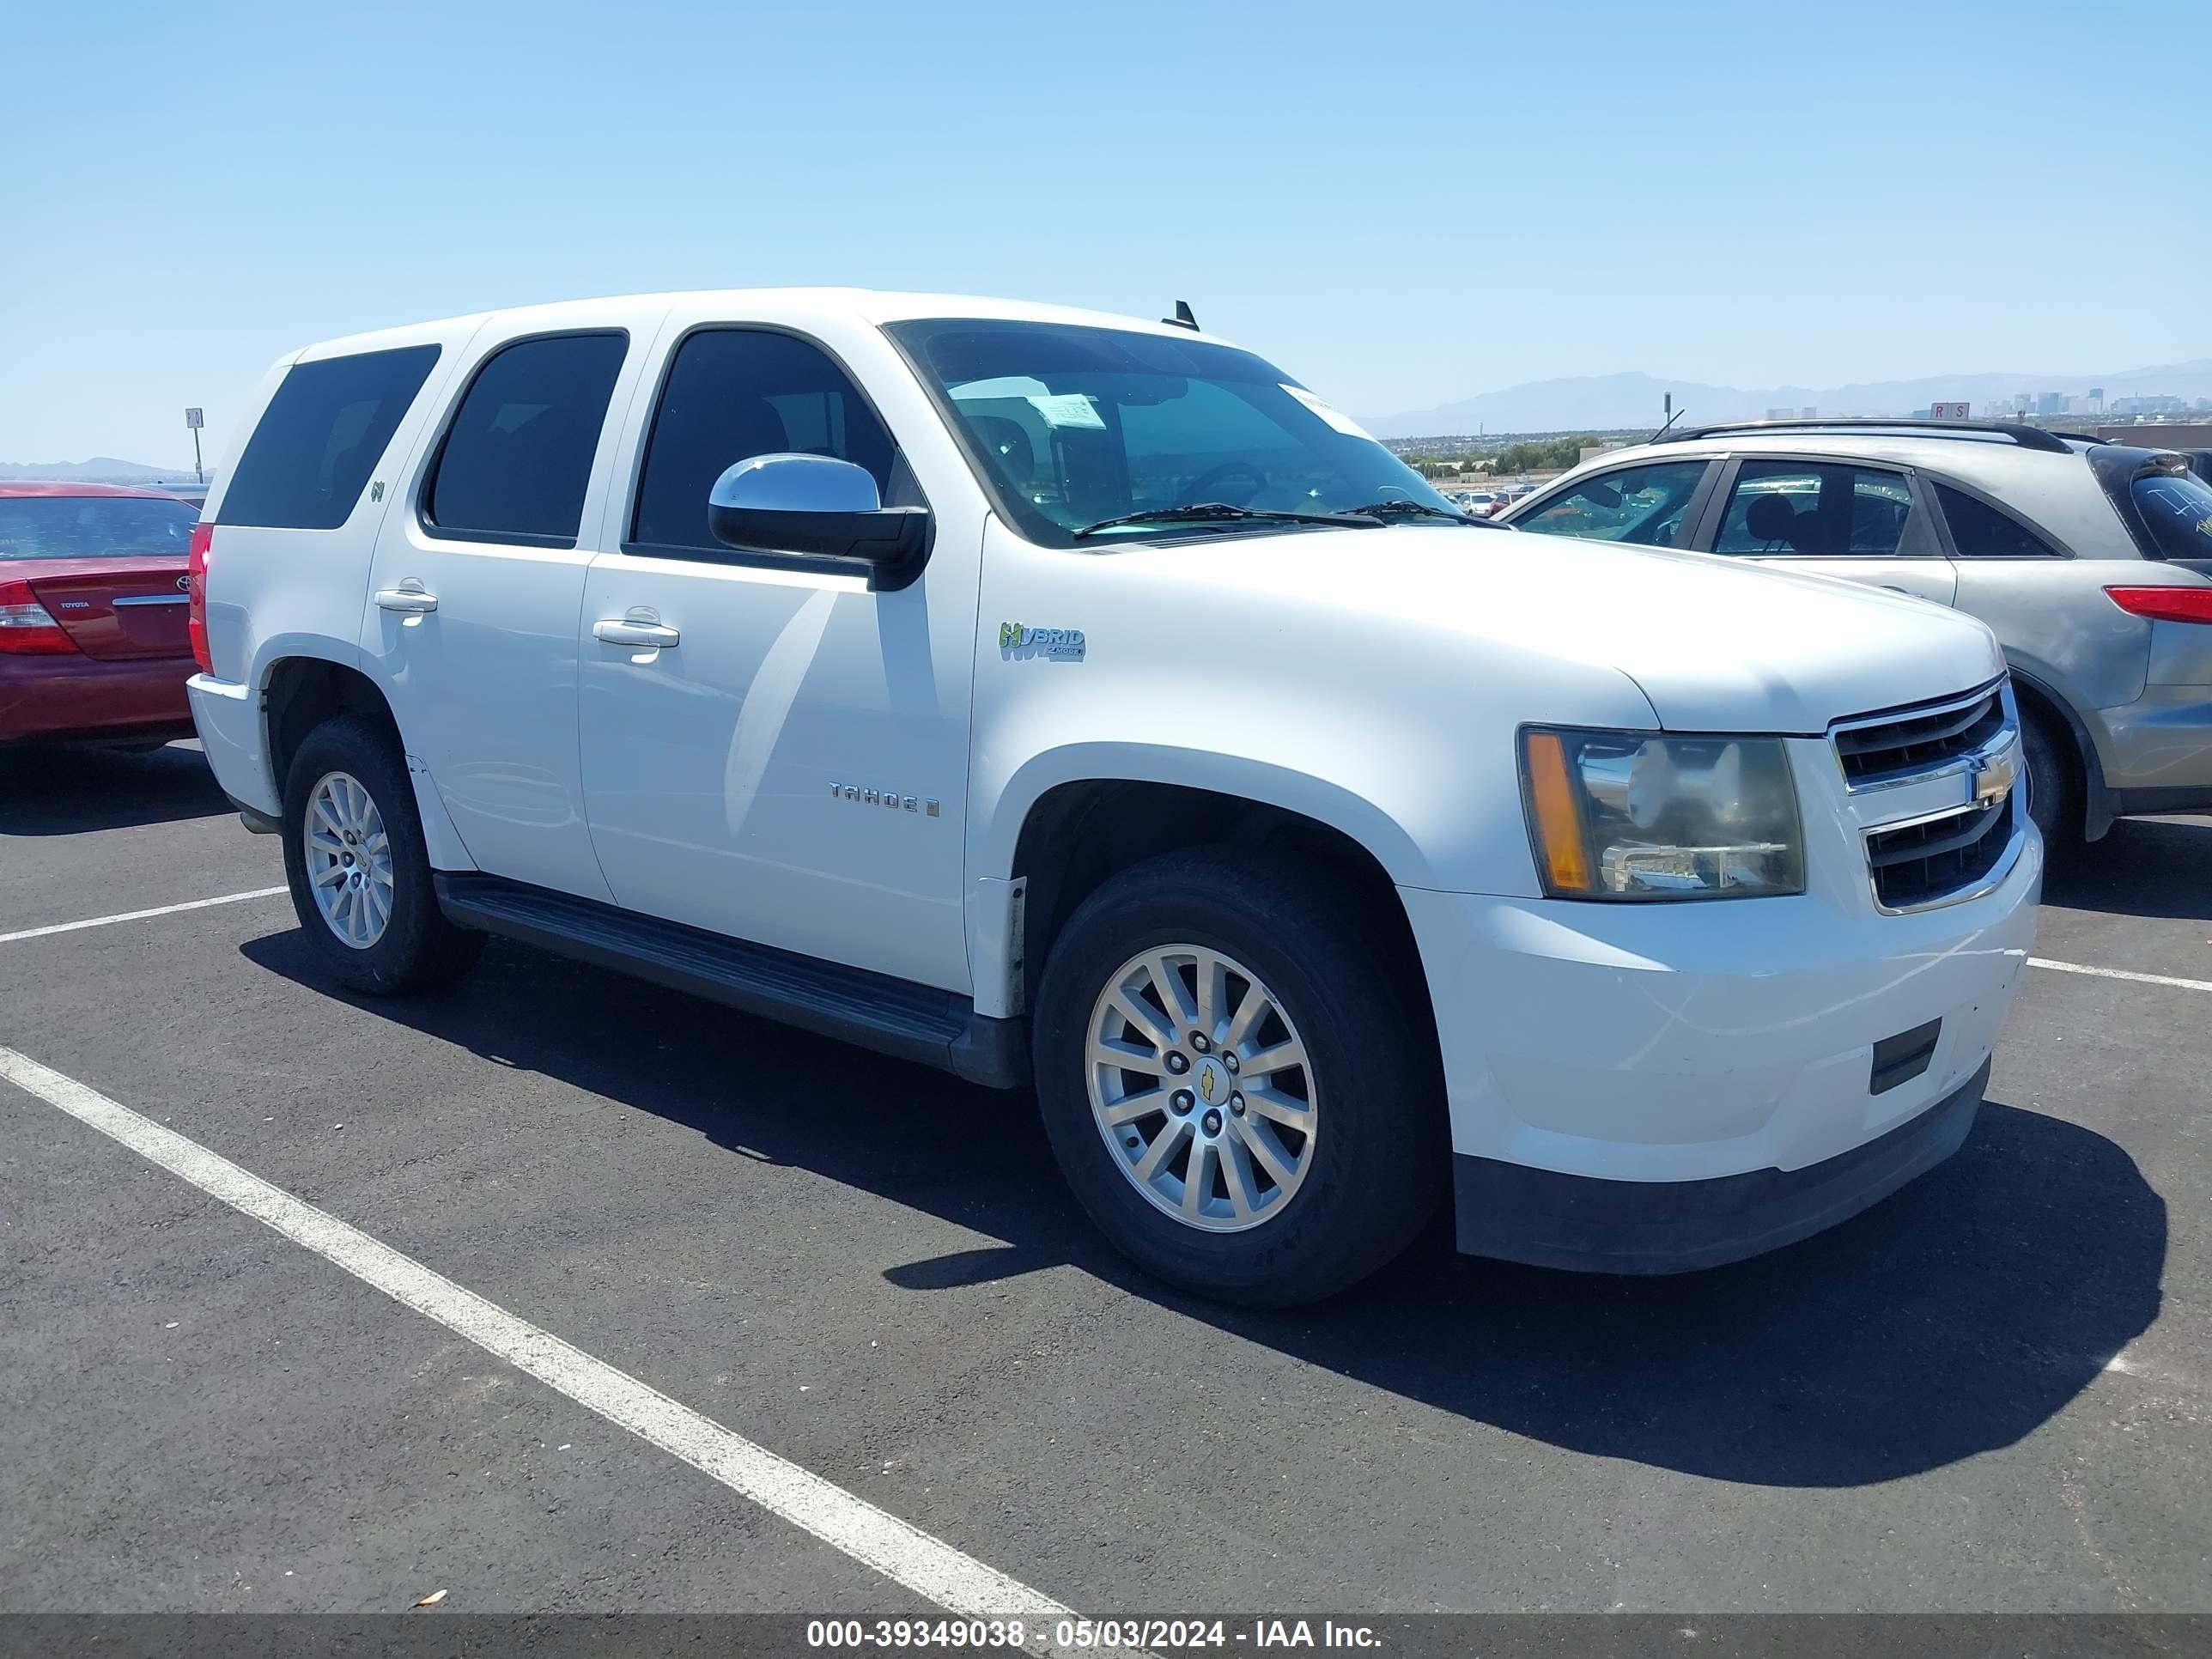
M307 801L332 772L345 772L369 792L392 847L392 918L367 949L341 940L307 885ZM480 936L460 933L438 909L422 818L416 812L407 763L389 737L367 721L341 714L316 726L292 757L283 792L283 869L307 949L321 969L354 991L396 995L449 978Z

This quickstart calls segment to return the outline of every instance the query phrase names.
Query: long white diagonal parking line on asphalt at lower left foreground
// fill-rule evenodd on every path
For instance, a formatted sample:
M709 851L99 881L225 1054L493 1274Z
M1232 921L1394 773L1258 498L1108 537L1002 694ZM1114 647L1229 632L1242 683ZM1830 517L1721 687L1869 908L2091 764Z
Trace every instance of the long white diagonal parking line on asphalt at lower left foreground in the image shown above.
M363 1283L529 1371L608 1422L650 1440L741 1498L750 1498L832 1548L876 1568L894 1584L969 1617L1035 1624L1073 1617L1068 1608L1026 1584L984 1566L765 1447L730 1433L635 1376L568 1347L551 1332L509 1314L473 1290L403 1256L392 1245L378 1243L290 1192L281 1192L259 1175L217 1157L199 1141L161 1128L128 1106L117 1106L100 1091L7 1046L0 1046L0 1079L58 1106L82 1124L91 1124L150 1164L184 1177L201 1192L274 1228L325 1261L334 1261ZM1042 1646L1037 1635L1031 1635L1031 1646ZM1048 1632L1042 1639L1048 1641Z

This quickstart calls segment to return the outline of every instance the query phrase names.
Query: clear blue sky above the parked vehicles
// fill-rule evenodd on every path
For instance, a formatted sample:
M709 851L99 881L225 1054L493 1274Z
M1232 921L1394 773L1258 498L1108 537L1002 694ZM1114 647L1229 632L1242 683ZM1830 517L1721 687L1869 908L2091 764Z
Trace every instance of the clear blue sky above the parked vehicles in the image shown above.
M2212 352L2190 4L51 4L0 460L210 458L285 349L597 292L1161 314L1365 414Z

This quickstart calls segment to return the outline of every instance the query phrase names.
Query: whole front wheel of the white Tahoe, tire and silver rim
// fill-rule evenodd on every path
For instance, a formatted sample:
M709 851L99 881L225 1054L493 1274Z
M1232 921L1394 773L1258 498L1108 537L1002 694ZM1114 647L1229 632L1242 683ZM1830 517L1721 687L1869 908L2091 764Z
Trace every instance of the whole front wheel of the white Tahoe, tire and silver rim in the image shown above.
M1418 973L1325 865L1208 847L1121 872L1037 989L1037 1102L1099 1230L1172 1285L1321 1301L1422 1230L1449 1137Z

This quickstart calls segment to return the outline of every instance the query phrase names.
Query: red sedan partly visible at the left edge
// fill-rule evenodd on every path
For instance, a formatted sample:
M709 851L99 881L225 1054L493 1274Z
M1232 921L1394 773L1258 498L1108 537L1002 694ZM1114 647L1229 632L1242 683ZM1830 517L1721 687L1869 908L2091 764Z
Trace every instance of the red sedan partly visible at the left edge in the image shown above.
M0 484L0 745L192 734L199 511L115 484Z

